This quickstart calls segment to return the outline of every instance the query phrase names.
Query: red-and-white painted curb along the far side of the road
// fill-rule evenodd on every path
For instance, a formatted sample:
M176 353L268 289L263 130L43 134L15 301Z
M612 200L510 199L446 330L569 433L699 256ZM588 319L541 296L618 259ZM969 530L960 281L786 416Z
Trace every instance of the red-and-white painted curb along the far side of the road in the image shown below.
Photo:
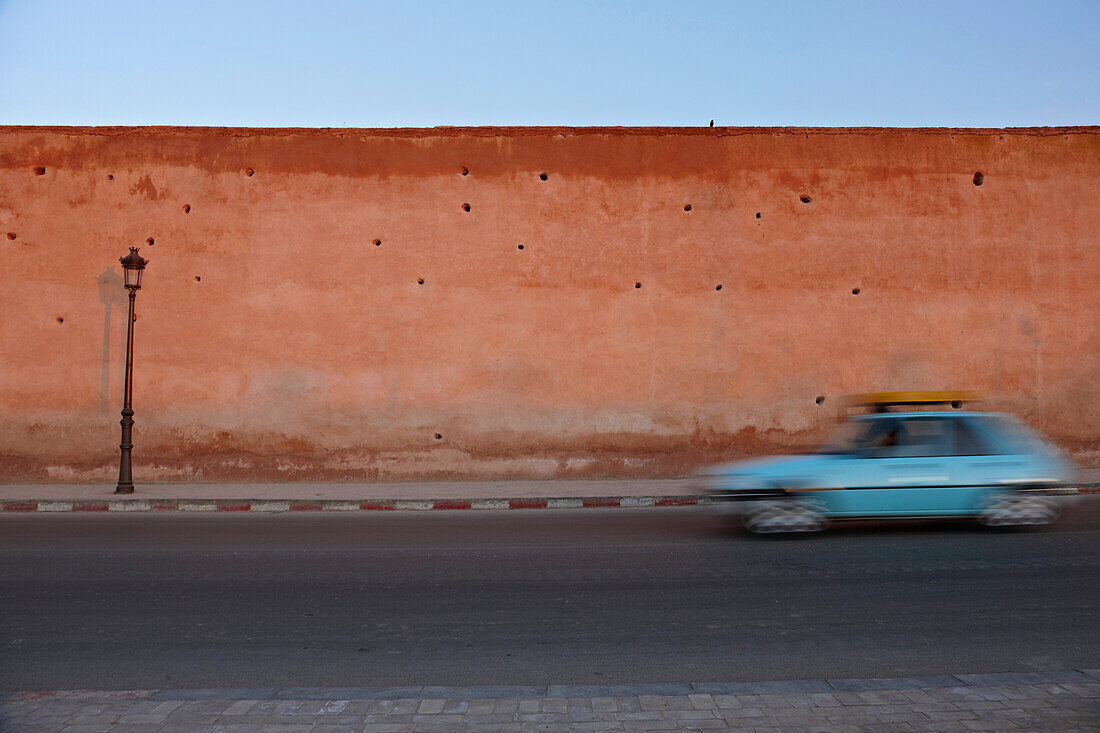
M453 510L614 508L641 506L696 506L708 496L570 496L546 499L447 500L241 500L241 499L120 499L72 501L0 501L0 512L431 512Z

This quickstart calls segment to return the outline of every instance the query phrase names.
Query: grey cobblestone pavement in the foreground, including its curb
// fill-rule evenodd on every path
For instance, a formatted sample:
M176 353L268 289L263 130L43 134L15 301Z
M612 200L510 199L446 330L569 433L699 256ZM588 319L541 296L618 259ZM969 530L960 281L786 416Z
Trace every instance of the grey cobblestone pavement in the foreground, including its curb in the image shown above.
M0 703L0 730L1097 731L1100 670L610 687L12 692Z

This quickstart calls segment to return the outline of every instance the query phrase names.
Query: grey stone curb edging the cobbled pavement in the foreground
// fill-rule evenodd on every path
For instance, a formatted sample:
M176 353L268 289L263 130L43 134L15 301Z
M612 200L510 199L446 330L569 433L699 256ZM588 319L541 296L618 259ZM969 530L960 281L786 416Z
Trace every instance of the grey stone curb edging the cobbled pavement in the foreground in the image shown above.
M887 690L965 689L1019 685L1087 685L1100 681L1100 669L1047 672L993 672L868 679L802 679L761 682L658 682L635 685L476 685L468 687L265 687L175 690L54 690L0 692L0 702L43 699L140 700L417 700L497 698L606 698L684 694L813 694Z

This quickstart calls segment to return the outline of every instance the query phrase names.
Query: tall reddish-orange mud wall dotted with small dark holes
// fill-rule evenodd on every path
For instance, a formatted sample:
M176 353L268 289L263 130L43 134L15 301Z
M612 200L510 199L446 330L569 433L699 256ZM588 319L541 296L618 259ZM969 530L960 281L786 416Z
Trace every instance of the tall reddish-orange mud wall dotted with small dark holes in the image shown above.
M0 129L0 481L116 477L131 245L138 481L672 475L901 387L1092 462L1098 190L1097 128Z

